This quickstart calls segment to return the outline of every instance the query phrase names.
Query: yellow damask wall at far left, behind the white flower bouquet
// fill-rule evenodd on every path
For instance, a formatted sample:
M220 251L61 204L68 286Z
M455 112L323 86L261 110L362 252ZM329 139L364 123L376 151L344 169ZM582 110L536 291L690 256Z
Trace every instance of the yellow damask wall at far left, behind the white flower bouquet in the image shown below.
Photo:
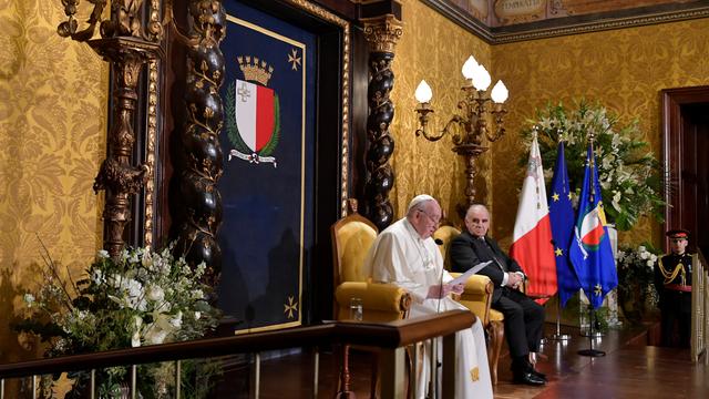
M42 243L78 273L101 246L107 64L56 34L60 1L0 0L0 364L33 357L10 324L42 279ZM22 344L28 344L23 341Z

